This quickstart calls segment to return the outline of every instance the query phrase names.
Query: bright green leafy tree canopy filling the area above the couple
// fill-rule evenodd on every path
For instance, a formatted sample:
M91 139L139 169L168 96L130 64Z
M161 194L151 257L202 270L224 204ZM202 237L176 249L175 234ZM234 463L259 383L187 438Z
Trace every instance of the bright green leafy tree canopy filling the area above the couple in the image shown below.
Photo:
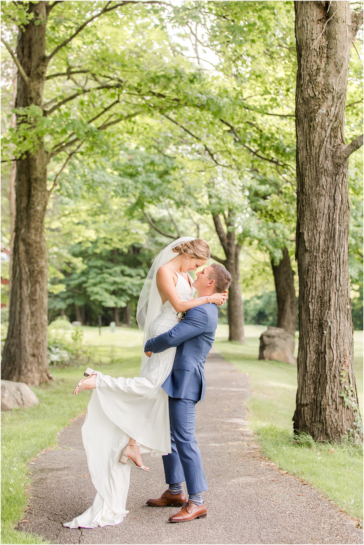
M31 17L28 2L3 2L2 9L4 36L15 49L16 25ZM147 241L157 250L169 237L205 233L223 258L216 214L228 218L226 231L234 229L244 246L243 289L251 295L255 280L259 293L271 274L260 265L264 256L269 264L280 260L284 246L294 253L293 2L63 2L50 11L46 32L47 53L56 53L44 104L18 111L21 123L3 143L4 158L31 151L40 138L49 154L53 316L75 303L93 306L95 316L105 305L132 301L143 274L120 256ZM3 58L9 102L14 65L7 51ZM361 130L361 100L362 66L353 49L348 140ZM362 289L361 173L356 152L350 159L354 299ZM5 214L5 244L8 221ZM258 262L245 260L246 252Z

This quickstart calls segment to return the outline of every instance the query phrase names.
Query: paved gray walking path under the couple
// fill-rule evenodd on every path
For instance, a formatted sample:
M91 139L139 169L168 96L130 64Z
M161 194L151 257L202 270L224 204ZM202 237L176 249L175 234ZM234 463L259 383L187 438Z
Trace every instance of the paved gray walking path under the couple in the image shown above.
M337 507L261 457L245 426L247 376L211 353L206 378L205 401L197 404L196 437L210 487L204 493L207 518L168 524L169 514L178 509L145 505L166 488L161 459L145 455L150 474L132 470L130 513L123 523L94 530L64 528L62 523L85 511L95 496L80 418L62 431L58 449L41 454L30 466L31 508L19 529L52 543L362 543L362 531Z

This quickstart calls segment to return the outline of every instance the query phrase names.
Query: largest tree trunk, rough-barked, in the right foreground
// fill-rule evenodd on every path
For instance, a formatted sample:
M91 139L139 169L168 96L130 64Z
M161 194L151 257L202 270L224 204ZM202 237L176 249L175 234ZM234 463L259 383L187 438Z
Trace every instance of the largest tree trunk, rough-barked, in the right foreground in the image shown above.
M295 431L336 440L360 428L353 367L344 108L351 41L349 2L295 2L298 390ZM362 143L362 140L361 140ZM361 432L359 432L361 435Z

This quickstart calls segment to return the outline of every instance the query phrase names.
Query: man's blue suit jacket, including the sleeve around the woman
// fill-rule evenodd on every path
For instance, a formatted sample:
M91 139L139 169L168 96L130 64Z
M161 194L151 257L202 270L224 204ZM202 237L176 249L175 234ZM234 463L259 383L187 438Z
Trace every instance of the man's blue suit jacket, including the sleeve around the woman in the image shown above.
M162 384L169 397L203 400L204 363L215 340L216 326L217 307L207 303L191 308L174 328L145 343L145 352L177 347L172 371Z

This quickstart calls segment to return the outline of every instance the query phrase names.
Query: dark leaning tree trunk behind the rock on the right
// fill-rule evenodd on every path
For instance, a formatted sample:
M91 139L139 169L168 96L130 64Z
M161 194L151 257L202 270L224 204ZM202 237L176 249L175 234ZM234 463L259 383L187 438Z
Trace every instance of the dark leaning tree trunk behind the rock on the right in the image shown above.
M271 261L277 295L277 328L282 328L294 335L297 323L297 300L294 289L294 271L292 270L288 250L282 250L283 257L275 265Z

